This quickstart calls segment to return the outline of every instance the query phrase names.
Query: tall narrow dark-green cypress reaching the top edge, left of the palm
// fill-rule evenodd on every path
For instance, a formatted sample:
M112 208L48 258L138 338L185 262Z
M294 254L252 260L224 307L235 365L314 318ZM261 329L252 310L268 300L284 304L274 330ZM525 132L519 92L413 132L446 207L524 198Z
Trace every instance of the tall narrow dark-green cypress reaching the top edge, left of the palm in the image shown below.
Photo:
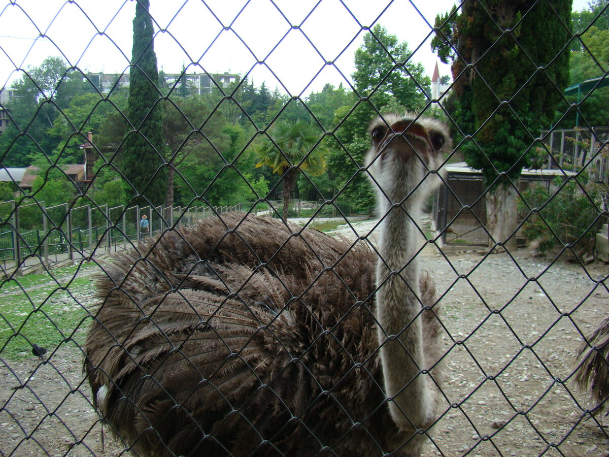
M122 172L132 203L161 205L167 191L163 167L163 129L149 0L137 0L133 19L133 52L127 116L130 128L122 152ZM138 197L141 195L142 197Z

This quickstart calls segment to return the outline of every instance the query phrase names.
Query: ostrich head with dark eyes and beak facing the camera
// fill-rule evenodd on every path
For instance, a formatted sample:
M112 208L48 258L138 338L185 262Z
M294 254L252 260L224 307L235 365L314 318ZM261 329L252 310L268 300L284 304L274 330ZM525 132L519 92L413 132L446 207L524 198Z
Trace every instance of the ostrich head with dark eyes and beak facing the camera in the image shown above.
M389 114L373 120L368 133L372 147L366 165L381 210L401 202L420 207L441 182L438 167L451 147L446 126L414 113Z

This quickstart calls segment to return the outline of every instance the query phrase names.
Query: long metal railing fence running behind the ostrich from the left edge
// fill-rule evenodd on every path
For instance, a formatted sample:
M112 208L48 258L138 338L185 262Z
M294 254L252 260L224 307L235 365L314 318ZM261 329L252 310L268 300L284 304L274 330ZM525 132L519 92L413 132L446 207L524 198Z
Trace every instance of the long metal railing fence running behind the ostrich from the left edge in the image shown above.
M158 236L167 228L192 225L200 219L231 211L242 213L253 211L256 214L279 217L277 210L280 210L282 205L281 202L272 200L262 206L253 202L244 202L230 206L201 205L171 208L150 206L125 208L124 205L112 208L108 208L107 205L99 208L91 205L70 207L67 203L45 208L44 202L40 202L38 207L37 204L20 206L15 201L4 204L12 205L12 213L8 217L12 223L5 222L2 224L5 231L0 231L0 262L5 272L12 271L18 265L21 269L43 265L50 268L54 264L62 263L63 260L117 252L134 246L144 236ZM290 205L289 215L295 218L313 216L329 218L339 214L336 207L325 205L323 202L295 200ZM42 208L38 228L17 231L14 221L19 219L22 211L32 207L39 210ZM263 210L262 207L269 209ZM347 213L342 212L342 214L350 214L348 207L343 206L343 210ZM52 214L55 214L56 218L58 216L55 219L57 221L65 219L65 224L54 224ZM150 224L150 230L146 233L138 225L139 219L144 214Z

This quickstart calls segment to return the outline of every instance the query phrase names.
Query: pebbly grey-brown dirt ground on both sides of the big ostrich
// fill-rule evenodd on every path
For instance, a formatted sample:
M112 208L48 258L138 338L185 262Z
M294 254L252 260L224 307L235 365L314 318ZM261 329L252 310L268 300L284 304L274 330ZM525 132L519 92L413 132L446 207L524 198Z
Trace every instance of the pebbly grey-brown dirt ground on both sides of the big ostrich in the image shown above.
M358 234L370 227L357 225ZM571 380L582 334L609 311L609 266L432 246L421 262L442 296L448 372L424 455L609 455L607 419L585 414L587 397ZM44 364L0 363L0 455L130 455L109 434L102 452L76 345Z

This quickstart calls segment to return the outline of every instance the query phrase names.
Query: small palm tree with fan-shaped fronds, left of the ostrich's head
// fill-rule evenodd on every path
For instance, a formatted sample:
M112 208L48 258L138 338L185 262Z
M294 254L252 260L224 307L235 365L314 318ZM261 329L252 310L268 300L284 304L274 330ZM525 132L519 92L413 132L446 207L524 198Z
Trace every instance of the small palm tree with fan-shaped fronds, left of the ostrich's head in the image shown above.
M258 147L260 161L256 168L270 166L273 173L283 175L283 219L287 220L290 193L299 171L306 171L313 176L319 176L326 171L328 149L315 146L319 141L309 124L300 119L296 122L278 121L272 127L272 140Z

